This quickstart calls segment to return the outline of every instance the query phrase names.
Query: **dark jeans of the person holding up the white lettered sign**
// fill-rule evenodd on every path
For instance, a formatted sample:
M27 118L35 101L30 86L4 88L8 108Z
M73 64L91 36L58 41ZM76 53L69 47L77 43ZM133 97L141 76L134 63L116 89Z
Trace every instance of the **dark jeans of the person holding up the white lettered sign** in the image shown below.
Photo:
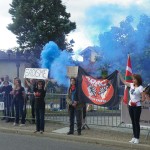
M45 115L45 108L36 108L36 130L37 131L44 131L44 115Z

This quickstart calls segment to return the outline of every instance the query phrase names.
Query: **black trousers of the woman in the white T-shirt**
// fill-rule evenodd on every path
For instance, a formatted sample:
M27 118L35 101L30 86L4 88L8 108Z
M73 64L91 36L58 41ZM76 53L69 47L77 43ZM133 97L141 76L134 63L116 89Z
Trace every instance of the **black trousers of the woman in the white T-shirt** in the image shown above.
M139 139L141 106L138 107L129 106L129 114L132 122L133 136Z

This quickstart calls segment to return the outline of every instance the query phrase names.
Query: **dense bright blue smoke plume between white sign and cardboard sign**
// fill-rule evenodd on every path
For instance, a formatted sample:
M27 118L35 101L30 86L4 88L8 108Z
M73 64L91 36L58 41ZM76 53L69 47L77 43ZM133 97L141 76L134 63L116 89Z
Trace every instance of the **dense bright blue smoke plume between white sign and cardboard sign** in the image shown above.
M61 51L56 43L50 41L41 52L41 67L49 69L49 75L58 85L69 86L67 66L74 66L72 54Z

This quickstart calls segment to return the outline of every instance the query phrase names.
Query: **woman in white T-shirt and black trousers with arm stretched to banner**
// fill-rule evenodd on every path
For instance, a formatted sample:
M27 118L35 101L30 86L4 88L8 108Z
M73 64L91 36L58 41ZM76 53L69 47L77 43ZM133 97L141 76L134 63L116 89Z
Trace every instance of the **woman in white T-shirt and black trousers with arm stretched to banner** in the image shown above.
M140 115L141 115L141 102L145 100L142 86L142 78L138 74L132 74L132 82L126 82L122 75L119 73L121 81L128 87L130 87L130 100L129 100L129 115L132 122L133 138L130 143L138 144L140 138Z

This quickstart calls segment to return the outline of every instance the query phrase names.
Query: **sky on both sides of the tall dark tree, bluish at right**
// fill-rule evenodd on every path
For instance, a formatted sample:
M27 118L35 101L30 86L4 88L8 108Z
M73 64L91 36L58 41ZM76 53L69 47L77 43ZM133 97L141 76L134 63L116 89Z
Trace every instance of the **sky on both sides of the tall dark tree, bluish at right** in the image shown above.
M11 2L0 1L0 49L3 50L17 46L15 35L7 29L7 25L12 23L8 13ZM75 51L98 45L99 34L111 26L118 26L127 15L135 18L142 13L150 15L149 0L62 0L62 3L71 14L70 20L77 25L77 29L68 36L68 40L75 41Z

